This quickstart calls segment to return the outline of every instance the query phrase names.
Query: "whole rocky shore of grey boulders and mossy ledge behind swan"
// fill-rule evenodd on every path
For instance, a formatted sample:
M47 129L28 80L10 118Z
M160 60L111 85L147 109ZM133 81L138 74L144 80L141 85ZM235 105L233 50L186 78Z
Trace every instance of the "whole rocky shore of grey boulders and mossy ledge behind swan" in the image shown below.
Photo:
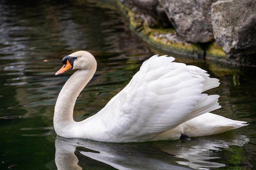
M117 0L130 29L166 52L256 65L256 0Z

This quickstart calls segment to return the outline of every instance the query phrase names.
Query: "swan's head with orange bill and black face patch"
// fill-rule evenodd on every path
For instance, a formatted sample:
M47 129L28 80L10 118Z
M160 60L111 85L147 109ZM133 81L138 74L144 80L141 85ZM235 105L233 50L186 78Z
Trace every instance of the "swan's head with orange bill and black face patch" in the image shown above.
M96 71L97 62L94 56L88 51L76 51L70 55L63 57L61 69L55 75L65 73L72 69L92 70Z

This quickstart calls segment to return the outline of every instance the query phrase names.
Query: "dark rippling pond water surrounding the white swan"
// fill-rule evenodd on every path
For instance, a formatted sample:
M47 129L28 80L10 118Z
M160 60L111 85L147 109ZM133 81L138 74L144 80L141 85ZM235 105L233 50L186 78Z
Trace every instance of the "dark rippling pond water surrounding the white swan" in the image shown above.
M94 54L98 70L77 100L76 120L97 113L152 55L111 2L0 1L1 170L54 170L56 165L66 170L256 168L255 68L178 56L220 79L220 87L209 91L221 96L222 108L214 113L250 125L193 141L108 144L56 137L54 105L72 72L54 73L64 55L81 49Z

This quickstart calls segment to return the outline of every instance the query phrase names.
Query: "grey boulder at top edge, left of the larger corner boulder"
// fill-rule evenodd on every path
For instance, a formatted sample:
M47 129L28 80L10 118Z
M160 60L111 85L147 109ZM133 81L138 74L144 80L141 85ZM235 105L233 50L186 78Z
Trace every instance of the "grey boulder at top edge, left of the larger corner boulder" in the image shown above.
M159 0L177 33L186 42L213 40L210 7L217 0Z

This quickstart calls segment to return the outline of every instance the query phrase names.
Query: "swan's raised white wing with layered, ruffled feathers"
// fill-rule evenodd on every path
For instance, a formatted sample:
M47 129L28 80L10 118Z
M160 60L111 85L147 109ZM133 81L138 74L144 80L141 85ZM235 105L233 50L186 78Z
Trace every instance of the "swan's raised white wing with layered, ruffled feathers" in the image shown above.
M96 114L109 134L145 140L219 108L218 95L202 94L218 86L218 79L174 60L157 55L146 60L129 84Z

